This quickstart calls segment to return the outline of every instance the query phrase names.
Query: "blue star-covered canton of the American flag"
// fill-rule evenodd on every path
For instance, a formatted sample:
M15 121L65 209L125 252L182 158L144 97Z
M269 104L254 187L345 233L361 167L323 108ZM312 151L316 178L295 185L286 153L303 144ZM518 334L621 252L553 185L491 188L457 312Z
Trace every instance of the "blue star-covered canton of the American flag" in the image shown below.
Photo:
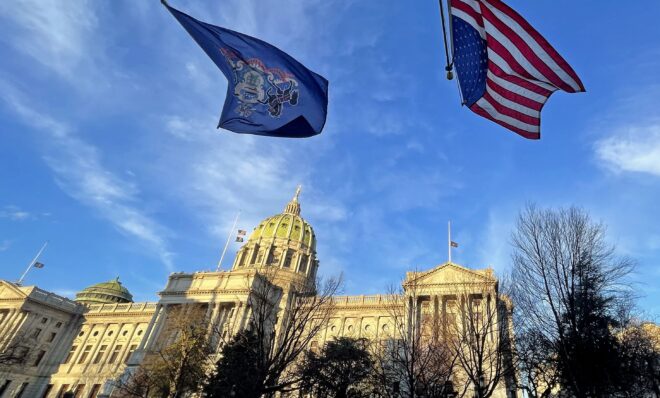
M454 34L454 67L463 94L463 102L472 106L486 93L488 49L484 39L472 25L452 17Z

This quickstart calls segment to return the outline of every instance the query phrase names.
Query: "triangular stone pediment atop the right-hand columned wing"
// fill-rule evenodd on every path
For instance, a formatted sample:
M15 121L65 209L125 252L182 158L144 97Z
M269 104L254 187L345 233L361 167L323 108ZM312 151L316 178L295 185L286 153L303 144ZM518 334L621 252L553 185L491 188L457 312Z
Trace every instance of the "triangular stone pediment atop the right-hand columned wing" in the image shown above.
M494 283L497 280L493 270L472 270L455 263L444 263L429 271L409 272L406 283L418 285L437 285L449 283Z

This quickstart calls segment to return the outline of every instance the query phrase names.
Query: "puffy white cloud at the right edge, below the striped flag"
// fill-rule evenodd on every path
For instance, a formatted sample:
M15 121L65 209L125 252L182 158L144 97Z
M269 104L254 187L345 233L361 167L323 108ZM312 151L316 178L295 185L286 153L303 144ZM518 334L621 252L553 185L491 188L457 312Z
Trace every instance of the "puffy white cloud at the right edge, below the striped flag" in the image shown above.
M660 177L660 123L618 129L595 145L596 156L617 172Z

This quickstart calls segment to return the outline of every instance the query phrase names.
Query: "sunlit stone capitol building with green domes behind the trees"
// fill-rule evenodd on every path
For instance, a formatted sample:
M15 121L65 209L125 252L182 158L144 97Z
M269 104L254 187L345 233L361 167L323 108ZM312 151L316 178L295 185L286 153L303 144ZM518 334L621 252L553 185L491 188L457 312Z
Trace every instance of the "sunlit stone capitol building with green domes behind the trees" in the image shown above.
M249 327L250 295L261 270L277 270L272 283L283 292L277 328L289 306L295 305L288 297L301 286L313 289L319 271L316 235L301 217L298 196L299 192L282 213L254 228L231 270L173 273L157 302L134 302L119 278L86 287L74 299L0 280L0 353L18 359L0 361L0 397L53 398L67 391L80 398L112 396L115 380L127 368L138 367L158 344L172 308L199 306L214 330L229 335ZM418 325L410 333L423 329L420 325L427 318L464 324L464 317L456 315L462 306L489 313L493 309L496 325L491 328L511 330L512 306L498 293L491 268L447 262L408 272L402 279L403 311L411 324ZM335 308L310 348L339 336L396 339L392 294L334 297ZM491 334L490 341L499 335ZM517 397L513 378L503 375L492 396ZM470 388L463 391L466 397L472 397Z

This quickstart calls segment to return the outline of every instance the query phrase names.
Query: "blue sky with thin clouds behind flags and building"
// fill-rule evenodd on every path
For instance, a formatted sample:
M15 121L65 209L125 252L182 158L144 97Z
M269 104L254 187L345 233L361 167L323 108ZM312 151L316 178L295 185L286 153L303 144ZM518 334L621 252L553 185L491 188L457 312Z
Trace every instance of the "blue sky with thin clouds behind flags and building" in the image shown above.
M446 261L449 219L456 262L504 272L516 214L536 202L606 223L659 312L657 1L509 1L587 88L550 99L540 141L460 107L437 2L171 3L328 78L325 131L216 130L226 81L156 0L0 2L0 278L48 240L28 283L72 296L119 275L155 300L170 272L214 267L239 208L252 229L300 183L321 269L343 272L346 293Z

